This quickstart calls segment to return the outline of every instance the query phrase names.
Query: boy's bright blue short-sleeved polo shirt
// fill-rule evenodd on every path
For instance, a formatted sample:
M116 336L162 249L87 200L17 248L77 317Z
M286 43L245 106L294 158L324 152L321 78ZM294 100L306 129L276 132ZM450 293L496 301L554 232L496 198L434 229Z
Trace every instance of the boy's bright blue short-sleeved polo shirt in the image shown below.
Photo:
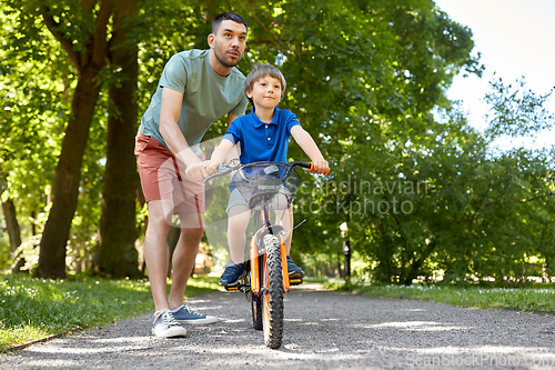
M235 144L241 143L241 164L263 161L287 161L287 144L291 129L301 124L290 110L274 109L272 122L262 122L254 109L231 122L223 137Z

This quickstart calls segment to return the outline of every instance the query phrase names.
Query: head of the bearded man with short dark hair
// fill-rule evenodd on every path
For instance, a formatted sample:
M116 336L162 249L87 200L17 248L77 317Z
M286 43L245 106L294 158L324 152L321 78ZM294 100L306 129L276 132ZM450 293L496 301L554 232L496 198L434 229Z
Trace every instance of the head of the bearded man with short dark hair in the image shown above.
M239 64L246 44L246 28L242 23L238 23L230 19L220 23L216 34L210 46L214 50L214 56L218 61L226 68L232 68Z

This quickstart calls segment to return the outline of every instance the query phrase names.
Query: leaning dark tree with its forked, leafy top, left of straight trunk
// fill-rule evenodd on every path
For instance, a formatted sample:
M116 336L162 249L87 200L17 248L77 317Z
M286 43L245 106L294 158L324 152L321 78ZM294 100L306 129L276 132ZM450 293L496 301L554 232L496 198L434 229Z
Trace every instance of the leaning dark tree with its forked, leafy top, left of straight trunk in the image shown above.
M89 129L107 66L108 24L114 4L103 0L65 4L40 2L44 24L60 42L77 73L62 149L56 169L53 203L40 243L39 277L65 277L65 246L75 212Z

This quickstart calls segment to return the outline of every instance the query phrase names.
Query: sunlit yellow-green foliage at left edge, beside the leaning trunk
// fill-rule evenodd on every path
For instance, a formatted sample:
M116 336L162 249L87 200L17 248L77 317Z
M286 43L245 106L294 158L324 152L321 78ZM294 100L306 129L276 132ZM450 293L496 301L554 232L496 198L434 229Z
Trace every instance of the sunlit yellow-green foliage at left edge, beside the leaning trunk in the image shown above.
M61 48L53 38L21 16L20 10L0 8L0 166L6 181L3 197L13 202L21 241L40 233L42 214L49 204L50 183L61 142L62 118L68 113L67 64L58 58ZM31 34L32 38L26 36ZM38 40L41 47L37 47ZM29 71L33 71L30 73ZM4 200L7 199L4 198ZM30 216L30 217L29 217ZM30 231L30 232L29 232ZM16 258L16 257L14 257Z

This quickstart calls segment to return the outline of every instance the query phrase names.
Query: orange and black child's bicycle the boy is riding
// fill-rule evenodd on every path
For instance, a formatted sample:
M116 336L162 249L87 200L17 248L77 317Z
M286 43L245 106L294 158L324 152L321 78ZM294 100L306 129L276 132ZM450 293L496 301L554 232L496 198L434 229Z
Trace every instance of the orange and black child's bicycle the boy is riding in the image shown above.
M246 273L230 291L242 291L251 302L252 322L256 330L264 330L264 342L269 348L281 347L283 338L283 297L291 286L301 284L302 279L289 279L286 251L283 244L285 230L272 224L271 210L291 207L301 177L293 169L303 167L310 171L312 163L255 162L240 166L236 162L221 164L218 173L206 178L236 171L232 183L254 212L254 232L251 238ZM205 180L205 181L206 181Z

